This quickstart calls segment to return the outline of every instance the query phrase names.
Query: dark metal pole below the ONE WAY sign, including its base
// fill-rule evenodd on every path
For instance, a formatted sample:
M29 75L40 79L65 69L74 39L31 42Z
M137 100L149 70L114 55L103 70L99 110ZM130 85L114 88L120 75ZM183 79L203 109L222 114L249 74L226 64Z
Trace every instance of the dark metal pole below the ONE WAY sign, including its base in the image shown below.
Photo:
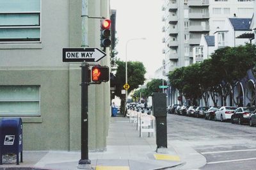
M88 63L81 65L81 160L79 169L92 169L88 157Z

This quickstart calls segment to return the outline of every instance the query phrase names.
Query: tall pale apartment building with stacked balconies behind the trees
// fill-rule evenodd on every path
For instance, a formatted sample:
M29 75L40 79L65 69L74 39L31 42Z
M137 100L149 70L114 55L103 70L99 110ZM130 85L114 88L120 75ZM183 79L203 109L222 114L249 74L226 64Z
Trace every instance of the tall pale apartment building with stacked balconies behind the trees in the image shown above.
M227 17L251 18L250 0L164 0L163 42L166 73L193 63L193 47L212 35Z

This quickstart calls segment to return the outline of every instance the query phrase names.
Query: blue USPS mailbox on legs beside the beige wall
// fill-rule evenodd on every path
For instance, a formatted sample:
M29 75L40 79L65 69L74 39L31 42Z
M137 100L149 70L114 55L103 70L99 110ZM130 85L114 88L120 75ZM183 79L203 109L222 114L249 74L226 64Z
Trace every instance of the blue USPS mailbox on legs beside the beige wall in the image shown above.
M17 156L17 165L22 162L22 120L21 118L2 118L0 120L0 165L6 153Z

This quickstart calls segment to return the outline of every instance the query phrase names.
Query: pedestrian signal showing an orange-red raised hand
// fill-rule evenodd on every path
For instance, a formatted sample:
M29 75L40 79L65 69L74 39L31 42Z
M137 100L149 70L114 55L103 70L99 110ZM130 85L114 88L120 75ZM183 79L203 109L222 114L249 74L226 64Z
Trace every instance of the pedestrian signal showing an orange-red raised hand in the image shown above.
M92 81L93 82L107 82L109 81L108 66L93 66L92 67Z

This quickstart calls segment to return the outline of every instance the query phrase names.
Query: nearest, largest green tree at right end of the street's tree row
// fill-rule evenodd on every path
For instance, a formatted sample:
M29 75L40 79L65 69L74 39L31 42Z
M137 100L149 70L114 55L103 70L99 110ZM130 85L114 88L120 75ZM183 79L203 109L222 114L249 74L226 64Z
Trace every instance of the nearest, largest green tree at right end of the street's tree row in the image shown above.
M238 105L234 98L234 89L237 82L246 77L248 70L255 65L255 48L250 44L238 47L225 47L218 49L212 54L214 65L218 65L221 77L221 89L224 105L228 95Z

